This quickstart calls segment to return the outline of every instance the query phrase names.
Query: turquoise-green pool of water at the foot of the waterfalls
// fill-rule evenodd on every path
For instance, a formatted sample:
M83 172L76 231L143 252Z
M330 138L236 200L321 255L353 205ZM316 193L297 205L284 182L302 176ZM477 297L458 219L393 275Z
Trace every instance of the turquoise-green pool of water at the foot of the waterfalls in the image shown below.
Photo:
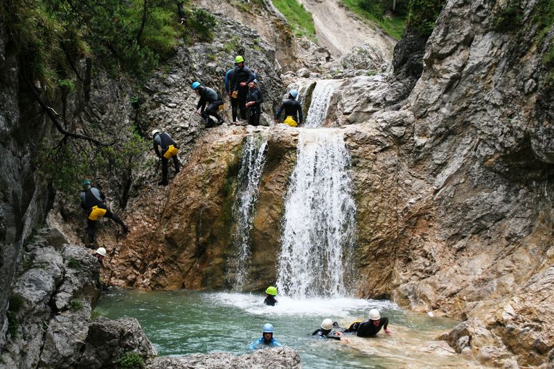
M459 368L468 361L447 352L434 339L456 321L405 312L388 301L355 298L278 298L263 304L259 294L198 291L109 291L95 309L107 318L132 316L141 323L159 355L251 352L249 343L272 323L274 337L296 349L303 368ZM346 341L311 336L324 318L341 327L377 308L389 319L391 334L379 332L362 339L345 334Z

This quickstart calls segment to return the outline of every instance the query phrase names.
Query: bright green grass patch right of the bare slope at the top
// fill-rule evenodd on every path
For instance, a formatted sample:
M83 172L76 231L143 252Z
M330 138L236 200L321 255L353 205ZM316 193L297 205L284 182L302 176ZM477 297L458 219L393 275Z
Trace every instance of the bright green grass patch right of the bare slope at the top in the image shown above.
M407 0L397 1L395 12L391 1L377 0L343 0L352 12L364 19L375 22L385 33L400 39L406 23Z

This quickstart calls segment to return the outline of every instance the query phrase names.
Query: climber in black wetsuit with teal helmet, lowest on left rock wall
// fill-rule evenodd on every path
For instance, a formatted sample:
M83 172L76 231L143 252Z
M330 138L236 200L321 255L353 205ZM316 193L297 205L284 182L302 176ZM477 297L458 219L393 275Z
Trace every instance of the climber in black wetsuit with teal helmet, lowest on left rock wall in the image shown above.
M96 222L101 217L107 217L113 220L123 228L123 233L127 233L129 228L115 213L111 213L109 208L105 206L105 195L96 187L92 187L90 179L82 181L83 190L80 193L81 208L87 210L87 233L89 235L89 248L94 249L94 236L96 232Z

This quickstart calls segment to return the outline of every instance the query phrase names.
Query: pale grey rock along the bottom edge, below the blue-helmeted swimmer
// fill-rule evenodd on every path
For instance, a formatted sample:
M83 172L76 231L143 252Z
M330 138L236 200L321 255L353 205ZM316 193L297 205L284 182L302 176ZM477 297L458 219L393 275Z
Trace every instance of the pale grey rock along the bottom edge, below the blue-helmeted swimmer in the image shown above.
M159 357L148 369L165 368L302 368L300 355L292 348L268 348L236 357L233 354L194 354L185 357Z

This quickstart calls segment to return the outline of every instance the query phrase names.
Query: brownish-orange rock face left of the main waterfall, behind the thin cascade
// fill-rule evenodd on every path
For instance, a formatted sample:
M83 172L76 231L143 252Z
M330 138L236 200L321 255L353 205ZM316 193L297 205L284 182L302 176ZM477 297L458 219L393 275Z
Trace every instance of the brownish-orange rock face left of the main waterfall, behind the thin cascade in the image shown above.
M197 145L169 192L160 190L134 201L131 233L111 259L111 284L145 289L221 288L234 252L232 207L242 146L247 134L267 137L267 165L262 175L251 237L251 273L274 268L280 240L285 189L296 161L296 132L287 127L219 127ZM154 197L153 197L154 196ZM154 201L152 201L154 200ZM261 289L266 273L252 288ZM110 278L111 277L111 278ZM267 280L266 280L267 278Z

